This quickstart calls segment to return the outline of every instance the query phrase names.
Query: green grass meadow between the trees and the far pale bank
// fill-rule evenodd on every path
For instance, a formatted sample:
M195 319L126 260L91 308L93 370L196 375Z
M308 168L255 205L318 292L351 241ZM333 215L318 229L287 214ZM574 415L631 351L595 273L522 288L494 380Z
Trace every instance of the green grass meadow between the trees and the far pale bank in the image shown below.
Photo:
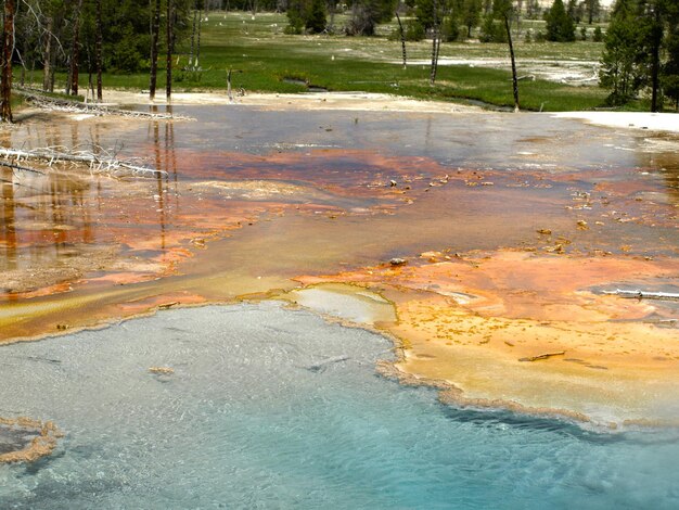
M528 23L528 22L527 22ZM536 23L536 22L531 22ZM338 17L335 24L341 26ZM389 40L393 25L380 27L379 37L291 36L283 33L283 14L232 12L213 13L203 23L200 72L182 71L188 64L189 47L178 48L174 87L177 91L226 89L227 69L233 87L247 92L302 92L306 87L292 79L330 91L383 92L417 99L473 100L495 106L513 104L511 74L507 69L470 65L439 65L437 85L428 84L431 41L409 42L408 59L421 61L406 69L400 64L399 41ZM597 62L601 43L516 42L516 56L523 60ZM507 44L454 42L441 44L440 59L500 59L509 66ZM163 59L163 58L162 58ZM164 62L164 60L163 60ZM534 64L541 65L541 64ZM546 62L546 66L559 63ZM521 72L520 72L521 74ZM82 87L87 77L84 76ZM165 74L158 84L164 87ZM113 75L104 77L107 87L148 89L149 77ZM525 110L590 110L603 104L606 91L595 86L568 86L543 79L520 84L521 106Z

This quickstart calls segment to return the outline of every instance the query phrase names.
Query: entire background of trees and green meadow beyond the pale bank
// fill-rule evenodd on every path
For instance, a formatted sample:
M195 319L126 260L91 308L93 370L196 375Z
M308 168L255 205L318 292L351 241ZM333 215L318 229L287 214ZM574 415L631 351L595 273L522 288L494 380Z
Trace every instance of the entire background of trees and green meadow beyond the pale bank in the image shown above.
M233 85L515 109L521 90L521 109L546 111L679 105L676 0L4 0L2 26L5 120L12 90L102 101L103 85L152 99L159 86L170 98ZM438 65L510 58L512 72ZM518 75L524 61L592 62L595 79Z

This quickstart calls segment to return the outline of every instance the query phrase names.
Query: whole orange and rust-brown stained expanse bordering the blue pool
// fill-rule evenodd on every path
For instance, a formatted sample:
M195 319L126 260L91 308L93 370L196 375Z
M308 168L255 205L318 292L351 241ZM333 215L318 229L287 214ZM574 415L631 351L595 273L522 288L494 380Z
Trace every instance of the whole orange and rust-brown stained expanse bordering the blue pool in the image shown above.
M400 375L459 401L677 417L677 307L603 293L678 285L674 174L195 151L165 132L140 145L154 178L0 170L0 342L355 283L393 303L377 327L403 346Z

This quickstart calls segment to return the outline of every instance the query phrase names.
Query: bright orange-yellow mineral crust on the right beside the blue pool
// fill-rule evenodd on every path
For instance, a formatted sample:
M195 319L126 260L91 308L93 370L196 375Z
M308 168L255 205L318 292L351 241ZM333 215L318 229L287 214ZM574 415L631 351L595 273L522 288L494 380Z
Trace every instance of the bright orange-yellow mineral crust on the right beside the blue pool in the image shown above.
M600 423L677 423L676 308L590 290L614 291L630 275L637 283L676 280L676 260L445 256L300 282L357 283L392 299L398 320L381 328L402 343L400 375L447 382L458 401L556 408Z

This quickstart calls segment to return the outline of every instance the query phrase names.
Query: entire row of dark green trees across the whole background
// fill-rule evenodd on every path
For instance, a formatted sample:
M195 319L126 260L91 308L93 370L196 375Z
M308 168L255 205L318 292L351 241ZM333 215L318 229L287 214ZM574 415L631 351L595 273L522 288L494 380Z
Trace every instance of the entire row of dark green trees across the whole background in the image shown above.
M372 36L379 24L400 12L405 23L398 17L395 37L403 46L403 65L406 40L431 38L432 85L441 41L470 38L477 29L481 41L509 43L513 61L512 33L522 16L542 17L546 31L538 36L567 42L576 39L578 23L591 24L602 15L600 0L554 0L545 11L537 0L3 0L3 8L0 117L5 120L11 119L12 84L24 85L27 75L31 82L40 76L42 89L52 92L55 73L61 72L67 76L63 92L69 94L78 94L86 75L88 89L97 87L101 99L103 72L149 71L153 98L158 68L165 65L169 97L171 54L181 39L191 37L189 65L198 68L204 10L286 12L290 33L326 30L349 36ZM337 12L348 15L342 29L334 26ZM585 27L580 31L587 36ZM525 33L528 40L531 31ZM603 38L595 27L593 39ZM617 0L604 42L600 79L611 89L612 105L645 91L653 111L661 110L665 99L679 104L678 0ZM515 84L514 89L517 107Z

